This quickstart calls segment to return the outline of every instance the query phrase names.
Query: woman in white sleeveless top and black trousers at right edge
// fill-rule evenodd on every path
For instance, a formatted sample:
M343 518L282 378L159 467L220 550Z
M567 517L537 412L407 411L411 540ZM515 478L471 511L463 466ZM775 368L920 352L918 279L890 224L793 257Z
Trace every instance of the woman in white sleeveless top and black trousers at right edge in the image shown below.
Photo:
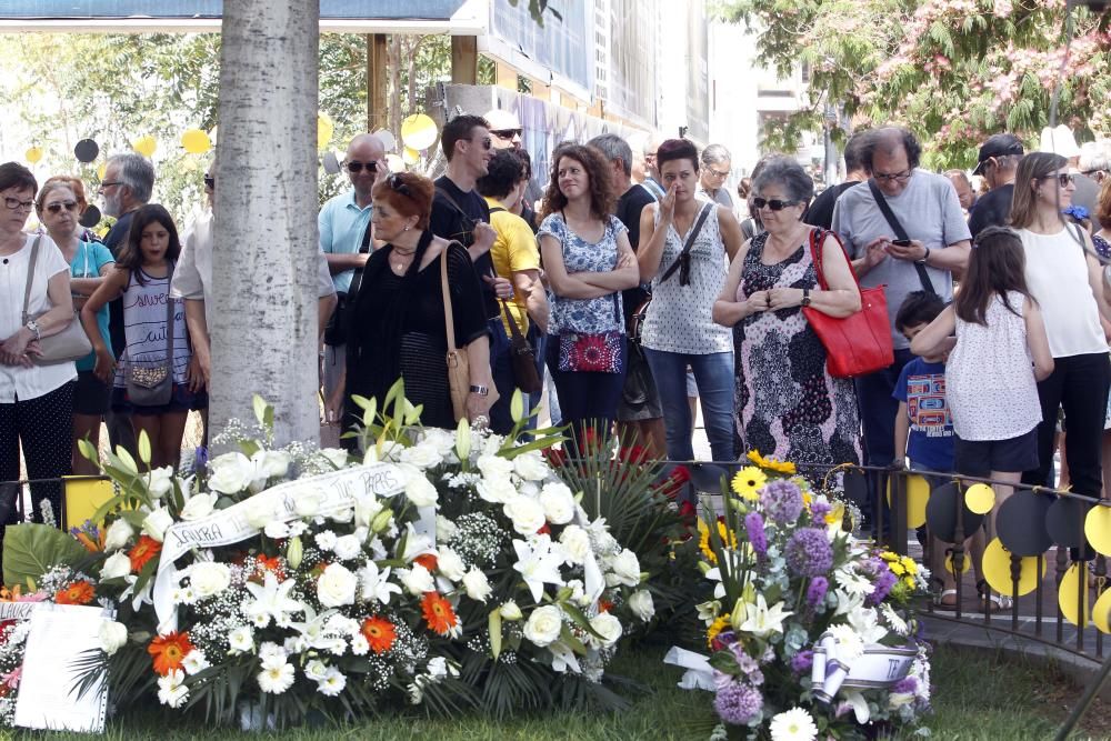
M1111 311L1092 238L1061 216L1072 206L1075 189L1069 162L1059 154L1032 152L1019 162L1011 226L1022 240L1027 286L1041 309L1054 364L1050 377L1038 383L1042 409L1039 467L1027 471L1022 480L1052 483L1053 434L1063 408L1069 425L1064 457L1072 491L1100 497L1100 452L1111 383L1100 317L1111 321Z

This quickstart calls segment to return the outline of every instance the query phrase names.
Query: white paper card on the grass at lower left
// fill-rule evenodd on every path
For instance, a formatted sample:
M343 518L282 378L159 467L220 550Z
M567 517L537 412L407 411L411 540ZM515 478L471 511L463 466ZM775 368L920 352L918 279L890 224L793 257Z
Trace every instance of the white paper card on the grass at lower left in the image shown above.
M16 725L102 733L108 688L101 679L78 697L81 673L74 662L100 650L102 608L43 604L31 614L23 672L16 701Z

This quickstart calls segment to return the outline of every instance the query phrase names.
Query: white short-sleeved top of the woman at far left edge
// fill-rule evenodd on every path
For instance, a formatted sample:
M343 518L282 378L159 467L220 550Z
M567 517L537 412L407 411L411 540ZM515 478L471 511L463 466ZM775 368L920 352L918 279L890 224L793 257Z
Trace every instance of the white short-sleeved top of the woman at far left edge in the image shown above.
M36 239L39 239L37 234L26 234L23 247L18 252L0 258L0 340L8 339L23 326L23 292L27 290L27 269L31 264L31 246ZM60 272L68 276L70 270L53 240L46 234L41 239L31 297L27 303L29 314L42 313L51 308L47 283ZM0 403L38 399L76 378L77 369L72 362L30 368L0 366Z

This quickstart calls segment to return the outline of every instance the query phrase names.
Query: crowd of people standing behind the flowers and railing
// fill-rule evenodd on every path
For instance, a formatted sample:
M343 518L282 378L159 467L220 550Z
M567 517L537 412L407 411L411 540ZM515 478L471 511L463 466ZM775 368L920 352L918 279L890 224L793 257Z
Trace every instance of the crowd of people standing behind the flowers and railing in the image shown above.
M372 134L350 142L351 189L319 213L333 433L361 415L352 394L383 399L402 378L428 425L467 418L506 434L514 392L530 424L547 397L572 450L615 429L652 458L690 461L697 403L718 462L758 450L1048 484L1063 412L1062 475L1102 494L1105 162L1085 174L1079 153L1028 153L1001 133L971 177L934 173L912 133L887 127L848 141L844 181L817 198L782 156L731 196L720 144L605 133L559 144L533 201L522 136L504 110L454 117L437 180L390 172ZM102 420L113 445L146 431L152 464L178 464L211 382L212 217L200 209L179 239L149 203L153 182L141 156L109 160L99 189L116 222L101 241L79 224L80 180L39 188L0 166L0 480L18 478L20 449L32 479L91 472L76 443L96 444ZM1087 206L1082 182L1097 189ZM832 373L815 318L853 317L877 287L893 362ZM74 317L89 352L42 362ZM34 501L57 508L59 494L47 484Z

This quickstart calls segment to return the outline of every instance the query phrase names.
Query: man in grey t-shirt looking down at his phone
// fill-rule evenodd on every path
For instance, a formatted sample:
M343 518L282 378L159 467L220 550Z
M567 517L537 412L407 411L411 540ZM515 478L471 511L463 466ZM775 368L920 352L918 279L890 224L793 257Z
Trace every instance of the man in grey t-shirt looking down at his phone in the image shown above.
M922 149L911 132L888 127L865 137L861 161L872 177L838 199L833 231L844 240L860 284L887 286L894 363L857 379L857 398L865 462L890 465L899 412L891 394L912 357L894 327L895 314L913 291L952 300L952 277L968 264L971 234L952 183L918 168Z

